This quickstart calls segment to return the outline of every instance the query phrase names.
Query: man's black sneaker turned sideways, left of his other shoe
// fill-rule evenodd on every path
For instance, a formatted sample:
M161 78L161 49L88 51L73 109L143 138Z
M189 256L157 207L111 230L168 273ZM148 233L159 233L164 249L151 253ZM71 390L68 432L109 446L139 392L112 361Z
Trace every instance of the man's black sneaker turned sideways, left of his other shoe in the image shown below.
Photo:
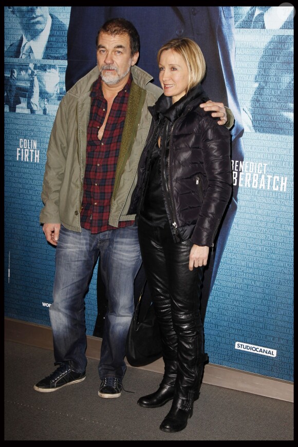
M75 373L68 365L62 363L50 376L45 377L39 383L34 385L36 391L41 393L51 393L57 391L66 385L72 385L73 383L82 382L85 380L86 373Z

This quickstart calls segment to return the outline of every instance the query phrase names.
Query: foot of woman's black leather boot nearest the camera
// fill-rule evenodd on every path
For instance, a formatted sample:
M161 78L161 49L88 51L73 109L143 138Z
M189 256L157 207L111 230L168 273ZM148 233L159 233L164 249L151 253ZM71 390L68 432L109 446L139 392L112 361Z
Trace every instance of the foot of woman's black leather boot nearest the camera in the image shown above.
M181 399L174 400L170 412L159 426L160 430L167 433L175 433L185 429L189 418L193 415L193 405L191 404L188 409L182 409L184 405L181 402Z

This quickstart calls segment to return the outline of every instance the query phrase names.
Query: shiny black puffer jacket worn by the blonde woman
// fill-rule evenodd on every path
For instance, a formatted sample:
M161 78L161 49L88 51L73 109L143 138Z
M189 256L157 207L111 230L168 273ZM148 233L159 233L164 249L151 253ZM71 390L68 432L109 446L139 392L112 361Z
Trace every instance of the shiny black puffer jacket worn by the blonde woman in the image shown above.
M199 107L207 100L199 84L174 104L161 95L149 108L154 125L140 159L133 201L140 209L151 149L161 135L161 185L174 240L191 238L194 244L213 247L232 193L231 135Z

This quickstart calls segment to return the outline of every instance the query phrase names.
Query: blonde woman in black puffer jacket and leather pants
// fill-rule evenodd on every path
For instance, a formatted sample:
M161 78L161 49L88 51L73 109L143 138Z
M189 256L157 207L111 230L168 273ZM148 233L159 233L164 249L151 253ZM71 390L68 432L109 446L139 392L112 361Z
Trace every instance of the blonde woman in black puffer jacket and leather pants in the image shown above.
M199 107L209 99L200 85L206 64L199 46L173 39L157 60L163 95L149 107L153 124L139 166L137 222L165 367L158 390L138 404L155 408L173 399L160 429L178 432L192 416L208 358L200 288L232 193L231 137Z

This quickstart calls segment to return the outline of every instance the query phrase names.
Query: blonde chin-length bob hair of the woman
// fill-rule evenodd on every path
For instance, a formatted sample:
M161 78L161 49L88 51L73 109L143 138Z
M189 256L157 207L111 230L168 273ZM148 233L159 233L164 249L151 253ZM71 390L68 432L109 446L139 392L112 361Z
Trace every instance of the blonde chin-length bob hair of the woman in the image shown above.
M188 92L191 88L199 84L206 73L206 62L203 53L196 42L189 38L172 39L164 44L157 53L157 63L163 51L173 50L180 54L188 67L189 83Z

